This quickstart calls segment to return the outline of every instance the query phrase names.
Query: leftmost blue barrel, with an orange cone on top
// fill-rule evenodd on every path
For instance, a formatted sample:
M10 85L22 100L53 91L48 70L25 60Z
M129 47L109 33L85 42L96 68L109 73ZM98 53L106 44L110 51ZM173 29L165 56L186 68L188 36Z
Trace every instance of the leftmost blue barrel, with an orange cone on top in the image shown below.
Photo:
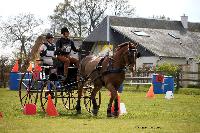
M9 89L18 90L20 74L18 72L10 72L9 75Z

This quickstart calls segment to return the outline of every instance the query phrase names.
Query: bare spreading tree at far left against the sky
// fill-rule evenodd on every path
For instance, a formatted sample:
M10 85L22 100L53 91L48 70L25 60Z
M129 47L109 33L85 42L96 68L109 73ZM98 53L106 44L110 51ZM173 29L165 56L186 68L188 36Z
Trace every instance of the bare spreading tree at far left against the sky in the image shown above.
M42 20L36 19L33 14L19 14L3 21L0 27L0 41L3 46L14 47L19 50L20 59L27 58L33 40L37 35L34 30L42 24Z

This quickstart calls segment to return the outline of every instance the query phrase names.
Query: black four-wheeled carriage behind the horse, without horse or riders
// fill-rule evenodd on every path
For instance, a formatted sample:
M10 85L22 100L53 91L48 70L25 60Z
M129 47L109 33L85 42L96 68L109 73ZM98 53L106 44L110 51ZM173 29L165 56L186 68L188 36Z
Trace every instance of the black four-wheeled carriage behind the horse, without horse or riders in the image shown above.
M84 50L82 50L82 54ZM27 70L21 75L19 83L19 98L22 107L26 104L38 104L40 102L42 111L45 112L47 107L48 95L54 105L57 106L59 100L67 110L74 110L78 98L78 83L84 79L77 78L78 68L71 64L68 67L68 74L63 74L63 63L54 59L55 65L49 66L43 63L41 66L38 63L33 64L33 70ZM37 60L36 62L42 62ZM54 70L54 73L50 71ZM92 82L87 82L84 86L82 99L84 100L85 108L91 112L92 103L90 100L93 89ZM98 106L101 104L101 92L96 97Z

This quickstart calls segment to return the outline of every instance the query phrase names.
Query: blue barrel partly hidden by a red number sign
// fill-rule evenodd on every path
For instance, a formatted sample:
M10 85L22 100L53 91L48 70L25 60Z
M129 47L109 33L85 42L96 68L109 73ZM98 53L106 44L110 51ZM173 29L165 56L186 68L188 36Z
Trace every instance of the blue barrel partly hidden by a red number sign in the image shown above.
M163 83L156 80L157 76L158 74L153 74L152 77L153 91L154 94L163 94Z

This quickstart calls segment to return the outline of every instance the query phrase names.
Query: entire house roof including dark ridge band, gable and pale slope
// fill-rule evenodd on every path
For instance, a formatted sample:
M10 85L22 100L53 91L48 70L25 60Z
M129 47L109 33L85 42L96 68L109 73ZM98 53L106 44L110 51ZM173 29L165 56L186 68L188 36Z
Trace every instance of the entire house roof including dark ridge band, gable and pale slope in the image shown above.
M200 23L188 22L186 30L181 21L109 16L109 24L114 31L137 41L158 56L193 58L200 54ZM106 41L106 29L107 18L85 41ZM138 36L134 31L143 31L149 37Z

